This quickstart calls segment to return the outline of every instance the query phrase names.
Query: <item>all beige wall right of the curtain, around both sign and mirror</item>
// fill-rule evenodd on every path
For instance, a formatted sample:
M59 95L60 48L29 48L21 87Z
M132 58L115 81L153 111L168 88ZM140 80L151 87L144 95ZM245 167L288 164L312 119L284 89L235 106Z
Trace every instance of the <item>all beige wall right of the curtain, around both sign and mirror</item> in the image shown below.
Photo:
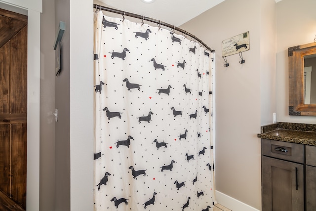
M225 0L181 26L217 54L216 190L259 210L260 126L272 123L274 112L278 122L316 122L316 117L288 115L287 49L314 41L314 8L315 0ZM229 56L224 68L221 42L246 31L245 64L238 64L238 55Z

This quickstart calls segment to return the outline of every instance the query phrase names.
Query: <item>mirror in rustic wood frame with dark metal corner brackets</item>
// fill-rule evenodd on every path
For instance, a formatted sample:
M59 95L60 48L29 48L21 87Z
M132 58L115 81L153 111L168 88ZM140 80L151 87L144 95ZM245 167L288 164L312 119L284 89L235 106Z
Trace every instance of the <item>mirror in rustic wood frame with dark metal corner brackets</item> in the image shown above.
M316 116L316 43L288 48L289 115Z

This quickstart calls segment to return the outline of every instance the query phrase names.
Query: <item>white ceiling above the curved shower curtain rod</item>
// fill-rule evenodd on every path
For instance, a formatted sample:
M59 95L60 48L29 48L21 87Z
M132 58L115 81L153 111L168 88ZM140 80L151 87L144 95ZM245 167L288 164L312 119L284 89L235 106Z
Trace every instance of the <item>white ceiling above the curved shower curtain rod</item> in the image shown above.
M188 22L224 0L99 0L109 7L144 15L176 27Z

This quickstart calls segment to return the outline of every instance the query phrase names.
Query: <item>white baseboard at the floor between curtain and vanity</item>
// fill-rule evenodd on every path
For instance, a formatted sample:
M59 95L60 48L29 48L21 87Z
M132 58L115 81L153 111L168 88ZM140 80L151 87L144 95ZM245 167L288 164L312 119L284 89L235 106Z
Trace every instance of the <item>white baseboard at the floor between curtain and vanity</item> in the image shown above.
M232 211L259 211L245 203L238 201L224 193L219 191L216 192L216 201L218 204L223 205L224 207L232 210Z

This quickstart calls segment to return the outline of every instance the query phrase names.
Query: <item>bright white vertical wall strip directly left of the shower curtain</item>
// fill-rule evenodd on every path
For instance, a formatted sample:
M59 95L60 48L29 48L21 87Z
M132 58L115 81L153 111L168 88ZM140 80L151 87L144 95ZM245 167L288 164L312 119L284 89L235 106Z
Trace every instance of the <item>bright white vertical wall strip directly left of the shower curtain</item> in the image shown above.
M70 0L71 211L93 210L93 0Z

